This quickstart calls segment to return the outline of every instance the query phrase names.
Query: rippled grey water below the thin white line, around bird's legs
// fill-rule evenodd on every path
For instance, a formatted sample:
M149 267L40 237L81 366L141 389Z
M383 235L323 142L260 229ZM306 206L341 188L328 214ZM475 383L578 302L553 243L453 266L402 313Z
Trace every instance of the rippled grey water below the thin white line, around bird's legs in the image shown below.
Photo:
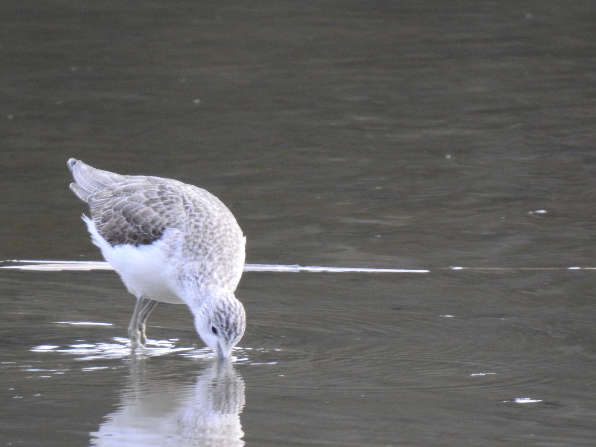
M582 272L247 273L239 294L249 326L232 364L246 405L232 414L213 403L231 391L210 389L223 379L183 306L158 308L148 328L150 337L179 338L131 356L118 336L132 300L114 275L25 275L3 275L12 299L0 367L12 439L195 445L215 442L222 426L234 436L215 445L240 445L240 431L265 445L591 439L594 311L589 290L578 291L591 281ZM45 302L23 306L26 291ZM42 408L57 409L42 417Z

